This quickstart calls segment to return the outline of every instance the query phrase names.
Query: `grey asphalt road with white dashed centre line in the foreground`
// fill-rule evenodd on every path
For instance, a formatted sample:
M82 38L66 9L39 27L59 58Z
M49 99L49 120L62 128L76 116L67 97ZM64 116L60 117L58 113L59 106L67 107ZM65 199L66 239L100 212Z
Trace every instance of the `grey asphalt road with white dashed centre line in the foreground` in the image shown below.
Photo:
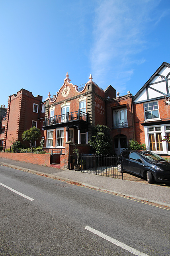
M0 255L169 256L170 210L0 166Z

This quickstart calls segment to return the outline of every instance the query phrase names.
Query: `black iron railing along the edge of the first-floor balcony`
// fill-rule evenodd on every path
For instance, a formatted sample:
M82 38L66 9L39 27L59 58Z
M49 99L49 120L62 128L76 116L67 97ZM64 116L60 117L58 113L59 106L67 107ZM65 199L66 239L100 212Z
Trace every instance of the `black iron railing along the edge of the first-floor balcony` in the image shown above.
M53 116L50 118L45 118L45 126L53 125L53 124L61 124L71 121L82 120L88 122L88 114L82 112L80 109L74 112L67 112L66 114L60 116Z

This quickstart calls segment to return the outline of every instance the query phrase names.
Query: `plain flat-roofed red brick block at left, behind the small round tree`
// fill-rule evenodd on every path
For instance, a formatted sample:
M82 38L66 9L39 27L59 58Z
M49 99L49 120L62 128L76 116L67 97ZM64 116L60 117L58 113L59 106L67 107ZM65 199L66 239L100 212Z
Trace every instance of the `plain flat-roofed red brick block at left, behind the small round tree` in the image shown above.
M5 127L5 130L3 137L0 137L4 148L10 148L10 141L13 139L19 140L29 147L28 142L23 142L21 136L25 130L33 126L41 130L43 137L45 108L42 100L42 96L34 97L32 92L25 89L9 96L7 113L2 120L2 127ZM39 143L40 141L37 141L37 144Z

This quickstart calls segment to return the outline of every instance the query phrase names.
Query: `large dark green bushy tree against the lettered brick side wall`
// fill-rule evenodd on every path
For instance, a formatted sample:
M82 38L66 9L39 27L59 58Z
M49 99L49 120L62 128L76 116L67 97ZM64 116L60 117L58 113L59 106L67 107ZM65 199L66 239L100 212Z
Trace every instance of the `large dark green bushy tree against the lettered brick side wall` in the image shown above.
M97 154L106 155L113 152L110 131L111 130L106 125L97 124L92 128L92 138L89 144L94 148Z

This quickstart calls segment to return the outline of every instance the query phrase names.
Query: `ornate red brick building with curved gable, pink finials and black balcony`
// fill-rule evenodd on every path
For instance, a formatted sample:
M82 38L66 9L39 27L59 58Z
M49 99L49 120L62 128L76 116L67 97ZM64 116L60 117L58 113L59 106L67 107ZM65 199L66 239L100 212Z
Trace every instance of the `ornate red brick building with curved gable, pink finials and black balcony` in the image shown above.
M102 90L89 81L82 87L70 83L68 73L56 95L46 99L44 147L65 148L70 141L88 144L92 127L106 124L106 99L115 97L115 89Z

